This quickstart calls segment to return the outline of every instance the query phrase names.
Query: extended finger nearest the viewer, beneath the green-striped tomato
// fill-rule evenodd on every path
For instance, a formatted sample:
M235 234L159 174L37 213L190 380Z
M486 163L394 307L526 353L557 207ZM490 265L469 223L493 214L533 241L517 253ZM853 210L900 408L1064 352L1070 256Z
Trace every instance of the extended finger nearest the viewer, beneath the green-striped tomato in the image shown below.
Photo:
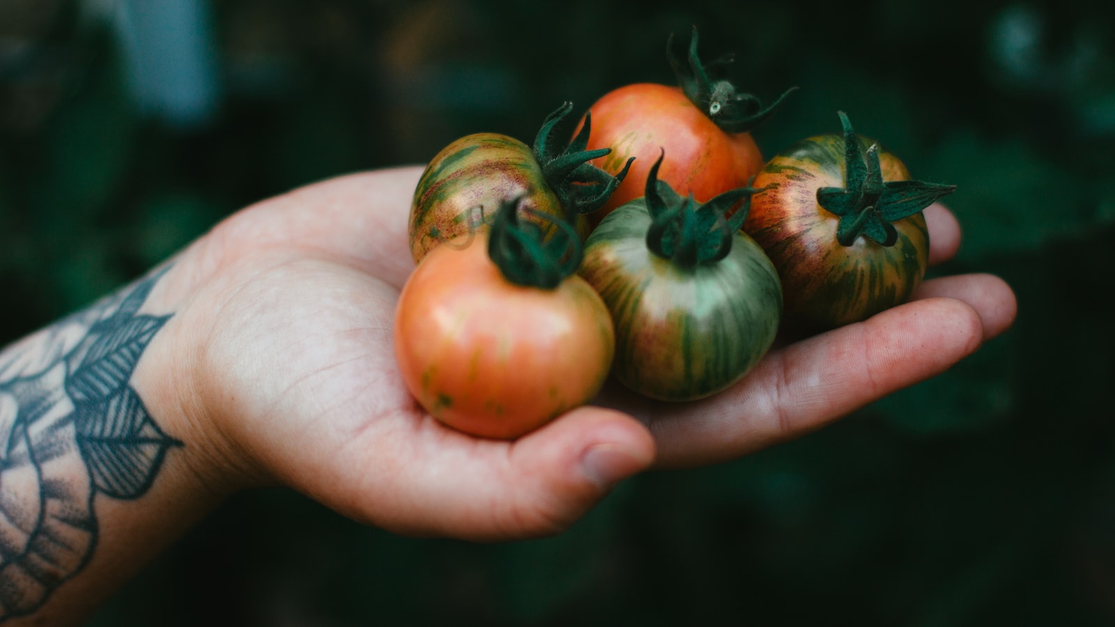
M710 398L663 405L628 397L620 407L648 424L659 465L711 464L804 435L938 375L982 339L970 305L927 298L774 350Z

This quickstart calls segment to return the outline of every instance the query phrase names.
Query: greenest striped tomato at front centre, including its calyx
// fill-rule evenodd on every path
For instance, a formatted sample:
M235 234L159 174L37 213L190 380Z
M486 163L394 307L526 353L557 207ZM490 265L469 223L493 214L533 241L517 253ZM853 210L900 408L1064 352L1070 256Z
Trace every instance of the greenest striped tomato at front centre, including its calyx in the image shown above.
M739 230L749 189L700 205L656 184L608 214L589 235L580 273L615 325L613 374L662 401L712 395L739 380L769 350L782 314L778 274Z

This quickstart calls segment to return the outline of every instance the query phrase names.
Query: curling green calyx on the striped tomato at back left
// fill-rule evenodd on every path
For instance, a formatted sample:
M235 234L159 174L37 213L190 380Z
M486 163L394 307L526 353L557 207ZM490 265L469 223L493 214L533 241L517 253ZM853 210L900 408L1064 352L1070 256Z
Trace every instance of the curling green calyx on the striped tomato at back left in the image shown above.
M546 184L554 191L558 202L572 219L600 209L627 176L634 157L628 160L619 174L611 174L589 163L612 152L611 148L586 151L592 116L584 114L584 125L569 145L562 146L558 126L573 110L573 103L564 103L551 113L534 138L534 158L542 166Z

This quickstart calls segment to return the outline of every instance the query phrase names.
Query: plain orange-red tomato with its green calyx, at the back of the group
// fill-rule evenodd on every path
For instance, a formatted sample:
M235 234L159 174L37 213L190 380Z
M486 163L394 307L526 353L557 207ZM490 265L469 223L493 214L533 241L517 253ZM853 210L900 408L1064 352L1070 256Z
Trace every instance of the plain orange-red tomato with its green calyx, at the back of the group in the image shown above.
M670 155L658 174L660 180L681 195L691 193L699 202L746 186L763 167L762 153L748 131L766 119L789 91L764 109L754 96L736 93L727 80L710 78L697 57L696 29L688 65L675 58L672 37L670 44L668 58L680 86L627 85L609 91L589 107L595 124L589 147L612 149L593 163L614 173L636 157L630 176L600 211L590 215L593 223L617 206L642 196L642 182L659 148Z

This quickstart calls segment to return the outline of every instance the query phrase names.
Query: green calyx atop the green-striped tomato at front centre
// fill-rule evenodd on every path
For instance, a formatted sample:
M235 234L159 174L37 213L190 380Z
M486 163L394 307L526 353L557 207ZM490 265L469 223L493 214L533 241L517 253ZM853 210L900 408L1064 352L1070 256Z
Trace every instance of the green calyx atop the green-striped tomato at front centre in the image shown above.
M694 200L692 194L681 197L669 183L658 180L658 167L665 156L663 151L647 174L643 200L651 218L647 248L681 268L716 263L731 252L733 237L747 219L755 190L729 190L704 204ZM739 201L744 201L743 205L725 218Z

